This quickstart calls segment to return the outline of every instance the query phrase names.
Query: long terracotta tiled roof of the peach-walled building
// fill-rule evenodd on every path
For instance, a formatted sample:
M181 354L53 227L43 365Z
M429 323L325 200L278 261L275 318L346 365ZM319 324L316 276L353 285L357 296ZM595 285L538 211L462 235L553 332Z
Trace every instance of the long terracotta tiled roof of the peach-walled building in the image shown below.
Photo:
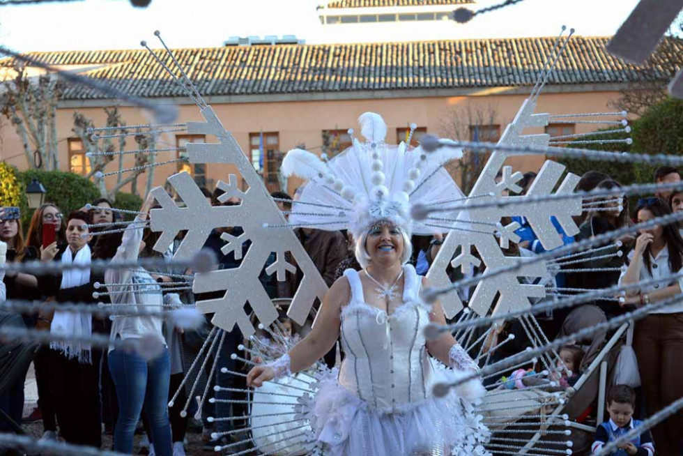
M682 66L683 40L654 54L647 69L608 54L609 38L571 38L548 84L668 80ZM174 50L204 96L532 86L555 38L501 38L335 45L229 46ZM161 50L155 53L169 68ZM677 55L676 55L677 54ZM184 96L146 50L33 52L49 65L92 67L85 75L134 96ZM0 66L12 59L0 60ZM177 74L177 71L176 71ZM70 86L64 98L103 96Z

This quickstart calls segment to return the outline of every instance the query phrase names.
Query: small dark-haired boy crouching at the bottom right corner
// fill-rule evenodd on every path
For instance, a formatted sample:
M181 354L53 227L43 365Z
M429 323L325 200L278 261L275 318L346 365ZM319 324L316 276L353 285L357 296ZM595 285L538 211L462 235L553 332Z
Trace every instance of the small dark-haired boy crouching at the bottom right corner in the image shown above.
M619 439L634 427L640 425L639 420L634 420L634 409L636 408L636 393L633 388L626 385L615 385L607 396L607 411L610 419L598 426L591 447L592 453L596 454L608 442ZM620 443L617 450L610 453L611 456L653 456L654 443L652 435L647 430L635 436L630 441Z

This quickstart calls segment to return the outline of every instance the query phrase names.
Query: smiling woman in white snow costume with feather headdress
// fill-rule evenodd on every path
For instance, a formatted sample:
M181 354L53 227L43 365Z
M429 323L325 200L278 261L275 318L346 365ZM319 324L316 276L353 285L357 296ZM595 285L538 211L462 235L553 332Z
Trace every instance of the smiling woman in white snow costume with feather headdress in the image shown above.
M282 171L309 179L289 221L351 229L364 269L347 270L332 284L312 332L275 362L254 367L247 382L260 387L305 370L341 337L346 358L338 376L320 381L309 415L324 454L486 454L488 430L471 405L484 392L481 384L470 382L445 397L432 393L436 381L454 372L436 368L430 356L461 375L478 367L450 333L424 337L430 322L445 324L445 317L438 301L420 301L428 283L408 264L411 234L435 231L411 220L410 206L463 197L443 169L460 151L389 146L381 117L366 113L360 121L364 144L355 139L330 162L295 149Z

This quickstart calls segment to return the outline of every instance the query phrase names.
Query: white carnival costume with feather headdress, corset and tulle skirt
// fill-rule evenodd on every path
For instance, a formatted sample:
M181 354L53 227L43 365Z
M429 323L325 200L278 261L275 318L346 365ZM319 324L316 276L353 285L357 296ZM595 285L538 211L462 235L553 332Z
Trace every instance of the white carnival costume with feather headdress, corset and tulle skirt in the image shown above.
M360 121L368 141L360 144L354 139L351 148L328 163L298 149L286 155L284 174L310 181L294 203L291 223L351 229L356 239L378 222L397 225L408 236L447 231L456 223L462 226L454 221L457 214L445 216L450 225L438 225L436 230L413 222L409 215L410 205L417 202L438 204L463 197L443 169L461 152L440 150L432 155L404 143L389 146L380 116L366 113ZM428 179L428 185L420 184ZM325 213L316 204L339 211ZM321 376L309 402L302 401L312 439L325 455L487 454L483 443L489 432L473 411L473 402L484 394L481 384L470 381L445 397L432 393L438 379L470 374L477 364L458 344L450 351L452 370L430 358L424 336L430 307L420 300L422 277L409 264L403 271L403 302L392 314L364 302L357 271L344 273L351 287L340 328L346 358L339 372ZM270 366L281 378L290 374L289 363L289 355L284 355Z

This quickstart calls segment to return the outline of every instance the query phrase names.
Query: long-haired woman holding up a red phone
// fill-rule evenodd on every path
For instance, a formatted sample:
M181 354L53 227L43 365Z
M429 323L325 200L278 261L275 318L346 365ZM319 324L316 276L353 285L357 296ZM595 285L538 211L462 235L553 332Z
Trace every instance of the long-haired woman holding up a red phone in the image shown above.
M40 249L57 253L58 245L66 245L66 223L55 204L45 203L33 212L29 232L26 234L26 250L40 257ZM36 328L49 330L51 315L40 314ZM57 421L54 397L49 390L49 357L47 347L40 347L33 366L36 367L36 383L38 384L38 409L29 416L29 420L43 419L43 437L56 439Z

